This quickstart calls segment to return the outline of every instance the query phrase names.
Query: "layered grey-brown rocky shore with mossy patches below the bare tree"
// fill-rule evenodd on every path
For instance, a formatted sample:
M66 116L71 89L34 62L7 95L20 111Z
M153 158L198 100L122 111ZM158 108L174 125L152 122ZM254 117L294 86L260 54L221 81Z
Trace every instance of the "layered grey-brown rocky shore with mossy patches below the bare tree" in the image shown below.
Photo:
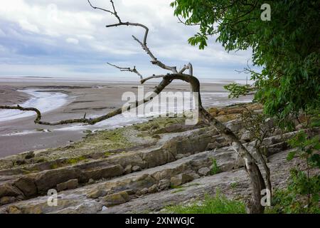
M209 111L255 156L255 140L240 118L243 106ZM262 110L255 103L245 108ZM87 132L66 147L2 158L0 213L158 213L218 190L233 199L249 197L250 183L233 148L215 129L183 123L183 118L156 118ZM272 120L264 125L274 128ZM263 140L274 187L284 187L290 168L299 163L286 160L292 150L287 140L296 133L276 128ZM58 191L56 207L48 205L50 189Z

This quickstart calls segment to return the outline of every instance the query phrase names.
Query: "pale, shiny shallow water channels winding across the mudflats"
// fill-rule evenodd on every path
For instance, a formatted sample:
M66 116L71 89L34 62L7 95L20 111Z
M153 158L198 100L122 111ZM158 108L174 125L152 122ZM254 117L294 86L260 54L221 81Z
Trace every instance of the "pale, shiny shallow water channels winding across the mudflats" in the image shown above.
M68 95L64 93L46 92L46 91L36 91L36 90L21 90L23 93L28 93L31 98L25 103L22 103L23 107L34 107L41 110L41 113L48 113L52 110L62 107L67 103ZM191 110L192 103L189 99L189 106L187 98L184 95L190 96L188 92L178 92L174 93L175 99L169 99L167 102L161 102L161 98L154 98L150 103L144 105L142 114L138 115L136 109L131 112L123 113L121 115L114 116L108 120L104 120L95 125L69 125L63 126L61 128L55 129L55 131L66 131L66 130L98 130L98 129L113 129L119 128L126 125L132 125L134 123L142 123L150 118L158 117L164 113L183 113L183 111ZM184 97L184 98L183 98ZM234 103L250 103L251 98L239 98L239 99L228 99L228 93L214 92L214 93L201 93L201 98L203 101L203 106L225 106ZM180 100L182 99L182 100ZM154 104L154 105L153 105ZM184 106L183 106L184 105ZM152 108L153 107L153 108ZM157 108L156 108L157 107ZM0 111L0 122L7 120L15 120L18 118L26 118L35 115L33 112L23 112L20 110L1 110ZM90 118L95 118L97 116L91 115ZM33 131L23 131L10 133L9 135L26 135L36 133ZM4 136L4 135L1 135Z

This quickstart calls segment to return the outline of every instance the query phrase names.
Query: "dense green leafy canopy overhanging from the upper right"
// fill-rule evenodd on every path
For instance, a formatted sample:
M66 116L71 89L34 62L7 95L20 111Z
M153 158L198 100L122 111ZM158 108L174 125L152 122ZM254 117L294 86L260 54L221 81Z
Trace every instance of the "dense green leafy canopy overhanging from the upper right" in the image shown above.
M271 21L260 19L262 4L270 4ZM175 0L171 6L186 24L200 25L191 45L203 49L217 34L226 51L252 48L252 62L263 68L250 71L255 99L267 115L287 125L292 113L320 106L320 1ZM247 89L229 88L236 95Z

